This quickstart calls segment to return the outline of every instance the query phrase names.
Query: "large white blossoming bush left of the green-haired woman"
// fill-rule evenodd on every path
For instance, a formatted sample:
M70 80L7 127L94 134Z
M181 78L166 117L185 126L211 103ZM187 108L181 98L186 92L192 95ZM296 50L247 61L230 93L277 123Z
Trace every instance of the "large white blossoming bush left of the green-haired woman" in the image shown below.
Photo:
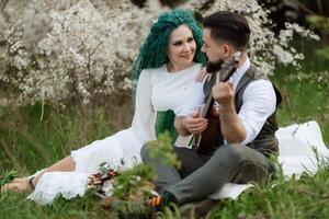
M147 33L141 26L149 26L145 22L135 25L135 18L148 18L146 11L143 14L128 1L112 8L97 4L99 10L88 0L77 1L65 10L47 5L32 2L27 4L30 12L25 12L31 16L39 10L38 19L47 19L44 23L49 31L42 37L26 41L31 36L30 30L24 28L24 16L19 22L9 22L1 35L0 64L4 70L0 81L8 93L18 96L16 103L47 101L65 105L73 99L87 104L97 96L110 95L117 87L125 88L124 83L114 85L114 79L131 71L140 33ZM43 28L41 23L37 25Z

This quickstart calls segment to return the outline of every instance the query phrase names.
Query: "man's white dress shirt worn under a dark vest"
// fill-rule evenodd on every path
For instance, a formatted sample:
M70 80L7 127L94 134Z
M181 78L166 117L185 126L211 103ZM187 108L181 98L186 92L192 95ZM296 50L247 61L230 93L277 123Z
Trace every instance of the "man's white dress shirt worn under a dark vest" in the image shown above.
M229 78L234 90L249 67L250 60L247 58L245 64ZM204 103L203 83L200 83L186 99L180 116L191 115ZM242 101L243 104L238 113L238 118L246 128L246 139L241 143L247 145L257 137L268 117L275 111L276 96L272 83L264 79L252 81L246 88Z

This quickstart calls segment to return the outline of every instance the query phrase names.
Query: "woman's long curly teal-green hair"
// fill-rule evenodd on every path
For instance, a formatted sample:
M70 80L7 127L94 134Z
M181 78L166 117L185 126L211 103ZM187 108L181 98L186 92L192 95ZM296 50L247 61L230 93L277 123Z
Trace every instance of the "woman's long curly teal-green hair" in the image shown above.
M150 28L150 33L140 47L132 71L133 96L136 94L136 87L143 69L160 68L168 62L167 48L172 31L180 25L186 25L193 33L196 43L196 51L193 61L205 64L205 56L201 51L202 30L198 27L193 14L186 10L172 10L160 14Z

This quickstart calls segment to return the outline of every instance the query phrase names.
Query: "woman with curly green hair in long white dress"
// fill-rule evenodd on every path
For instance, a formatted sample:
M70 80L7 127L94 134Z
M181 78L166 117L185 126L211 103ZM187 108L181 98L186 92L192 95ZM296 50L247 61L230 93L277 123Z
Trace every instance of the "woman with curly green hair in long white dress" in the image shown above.
M202 31L190 12L173 10L161 14L133 66L132 126L72 151L32 176L15 178L2 189L34 191L30 199L50 204L58 194L66 198L83 195L88 176L103 162L124 169L140 162L143 145L164 130L170 132L174 146L188 147L191 137L178 136L173 118L191 91L202 85L195 80L205 62L201 47Z

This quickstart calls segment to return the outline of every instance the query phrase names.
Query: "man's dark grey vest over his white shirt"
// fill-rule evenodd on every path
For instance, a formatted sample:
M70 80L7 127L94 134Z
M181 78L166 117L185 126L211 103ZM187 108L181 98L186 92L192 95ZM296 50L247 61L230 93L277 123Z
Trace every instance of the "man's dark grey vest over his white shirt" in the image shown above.
M260 72L253 65L251 65L250 68L247 70L247 72L240 79L235 91L235 104L236 104L237 113L239 113L243 104L242 96L246 88L249 85L249 83L259 79L269 80L264 73ZM204 84L205 96L207 96L211 93L212 84L214 84L214 82L215 82L215 77L213 77L209 82L205 82ZM277 108L277 105L281 103L282 97L277 89L274 85L273 88L276 95L276 108ZM276 108L274 113L270 117L268 117L265 124L261 128L256 139L247 145L248 147L262 152L266 157L269 157L271 153L275 154L279 152L279 142L275 137L275 131L277 130L277 124L275 118ZM218 132L215 139L216 145L217 146L223 145L224 143L223 139L224 138L222 132Z

